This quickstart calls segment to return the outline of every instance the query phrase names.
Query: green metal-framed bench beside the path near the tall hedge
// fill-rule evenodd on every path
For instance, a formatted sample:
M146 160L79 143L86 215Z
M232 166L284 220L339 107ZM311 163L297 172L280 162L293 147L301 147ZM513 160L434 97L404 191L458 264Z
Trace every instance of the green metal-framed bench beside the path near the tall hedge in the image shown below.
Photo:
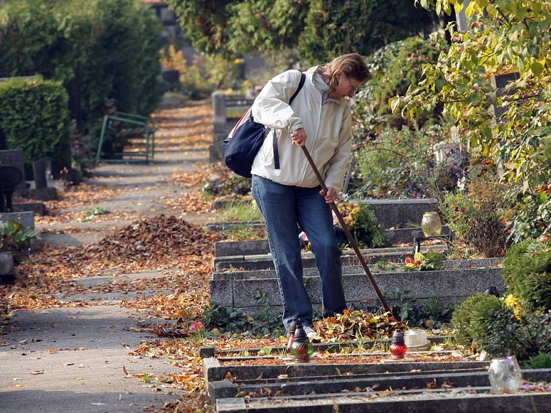
M155 156L155 127L154 120L147 116L119 112L113 101L105 103L105 116L101 125L101 134L96 153L96 164L99 162L125 163L145 162ZM113 158L105 158L104 145L107 135L112 133L117 139L132 140L136 151L119 151L113 153ZM126 148L125 148L126 149Z

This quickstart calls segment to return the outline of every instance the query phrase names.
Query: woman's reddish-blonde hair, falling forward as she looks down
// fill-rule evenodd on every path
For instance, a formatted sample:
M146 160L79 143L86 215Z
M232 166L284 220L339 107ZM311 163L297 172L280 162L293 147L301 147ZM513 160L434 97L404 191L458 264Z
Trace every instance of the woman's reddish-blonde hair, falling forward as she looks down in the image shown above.
M330 63L318 66L315 72L322 75L324 81L329 85L329 92L333 92L339 87L342 74L361 83L368 81L372 77L364 58L357 53L343 54L342 56L335 57Z

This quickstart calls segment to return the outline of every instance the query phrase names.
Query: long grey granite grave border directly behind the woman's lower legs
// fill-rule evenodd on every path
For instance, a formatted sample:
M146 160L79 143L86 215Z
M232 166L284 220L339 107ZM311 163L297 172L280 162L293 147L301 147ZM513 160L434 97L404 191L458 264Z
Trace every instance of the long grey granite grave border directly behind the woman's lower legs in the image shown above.
M378 306L375 291L364 273L343 275L344 294L348 304L355 306ZM439 297L442 303L457 302L475 293L483 293L488 286L504 290L505 284L500 268L462 268L444 271L411 271L406 273L374 274L388 304L397 298L419 301L430 297ZM227 278L212 279L211 299L232 310L245 313L259 313L264 302L255 297L257 293L265 295L267 304L273 313L280 313L282 303L275 278L236 279L227 274ZM304 286L314 306L321 305L320 277L304 277Z

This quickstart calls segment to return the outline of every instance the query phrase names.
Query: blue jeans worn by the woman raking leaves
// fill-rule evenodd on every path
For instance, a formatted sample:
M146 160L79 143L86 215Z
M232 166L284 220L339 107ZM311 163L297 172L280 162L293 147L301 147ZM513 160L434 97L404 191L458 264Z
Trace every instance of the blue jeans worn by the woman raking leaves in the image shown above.
M324 316L346 309L340 262L342 252L335 238L331 207L320 195L320 189L282 185L253 175L253 197L266 221L286 329L293 318L305 326L312 324L312 304L302 282L297 224L308 235L320 271Z

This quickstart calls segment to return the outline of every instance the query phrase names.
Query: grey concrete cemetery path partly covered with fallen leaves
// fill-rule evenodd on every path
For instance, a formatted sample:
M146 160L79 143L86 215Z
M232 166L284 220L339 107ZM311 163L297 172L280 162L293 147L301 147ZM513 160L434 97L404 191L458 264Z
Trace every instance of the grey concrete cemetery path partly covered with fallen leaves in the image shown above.
M96 169L95 177L86 183L113 189L111 198L58 211L63 215L105 207L112 211L110 216L105 215L99 222L39 221L37 230L45 231L43 242L58 246L91 244L134 218L178 215L167 207L166 200L180 197L186 189L174 183L172 177L193 171L208 157L206 145L199 149L197 145L186 147L185 142L171 145L175 137L189 133L187 125L191 123L202 122L203 133L209 136L209 109L204 104L195 106L200 115L194 114L194 107L185 111L189 113L185 118L176 116L170 108L157 114L164 126L156 134L157 151L151 164L100 165ZM198 224L209 218L209 214L185 216L188 222ZM141 321L154 324L163 320L144 319L143 313L121 306L123 298L170 291L101 290L112 282L171 274L161 270L76 279L84 292L56 295L67 306L14 313L8 322L17 330L0 336L0 412L142 412L161 409L164 403L184 394L170 384L146 383L147 378L144 381L133 376L143 373L164 377L178 368L167 359L129 354L141 341L156 338L140 331Z

